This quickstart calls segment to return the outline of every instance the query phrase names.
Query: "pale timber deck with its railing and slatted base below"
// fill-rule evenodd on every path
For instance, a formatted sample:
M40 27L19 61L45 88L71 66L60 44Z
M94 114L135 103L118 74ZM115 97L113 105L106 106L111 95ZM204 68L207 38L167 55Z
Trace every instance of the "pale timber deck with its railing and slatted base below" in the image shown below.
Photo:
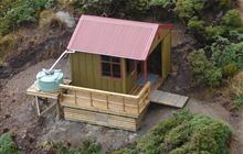
M136 132L150 103L149 82L136 96L62 84L60 87L64 119L71 121Z

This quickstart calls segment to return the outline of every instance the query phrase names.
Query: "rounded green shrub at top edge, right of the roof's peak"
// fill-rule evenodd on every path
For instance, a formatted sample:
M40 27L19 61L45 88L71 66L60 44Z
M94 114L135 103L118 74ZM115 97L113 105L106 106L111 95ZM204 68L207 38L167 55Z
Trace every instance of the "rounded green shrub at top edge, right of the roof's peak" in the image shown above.
M176 12L179 18L190 19L201 13L204 0L177 0Z

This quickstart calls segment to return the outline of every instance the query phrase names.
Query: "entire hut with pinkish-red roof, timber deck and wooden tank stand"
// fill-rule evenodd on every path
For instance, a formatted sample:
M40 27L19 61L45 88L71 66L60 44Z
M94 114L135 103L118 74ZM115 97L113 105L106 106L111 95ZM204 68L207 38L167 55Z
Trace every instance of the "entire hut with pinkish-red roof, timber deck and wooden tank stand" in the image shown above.
M71 54L72 82L61 84L55 94L42 92L34 85L28 89L36 99L39 116L57 105L57 116L61 107L66 120L137 131L151 89L169 74L171 28L82 15L62 54ZM40 112L39 97L57 101Z

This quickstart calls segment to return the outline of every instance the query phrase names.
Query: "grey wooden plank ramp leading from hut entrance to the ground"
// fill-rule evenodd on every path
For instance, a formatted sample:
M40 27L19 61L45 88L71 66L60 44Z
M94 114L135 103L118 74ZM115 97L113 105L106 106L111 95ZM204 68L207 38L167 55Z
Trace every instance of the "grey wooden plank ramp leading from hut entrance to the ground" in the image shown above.
M150 99L151 102L154 103L159 103L176 108L183 108L189 97L170 94L161 90L154 90L150 95Z

